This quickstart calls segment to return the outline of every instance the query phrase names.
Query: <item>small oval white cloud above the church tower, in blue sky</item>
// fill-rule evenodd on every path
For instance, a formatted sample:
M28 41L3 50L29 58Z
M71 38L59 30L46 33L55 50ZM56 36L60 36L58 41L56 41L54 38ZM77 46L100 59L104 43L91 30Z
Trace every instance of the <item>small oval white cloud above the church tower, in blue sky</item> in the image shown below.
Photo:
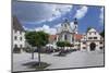
M88 8L87 7L82 7L81 9L78 9L74 15L74 17L76 19L82 19L85 16L85 14L87 13Z

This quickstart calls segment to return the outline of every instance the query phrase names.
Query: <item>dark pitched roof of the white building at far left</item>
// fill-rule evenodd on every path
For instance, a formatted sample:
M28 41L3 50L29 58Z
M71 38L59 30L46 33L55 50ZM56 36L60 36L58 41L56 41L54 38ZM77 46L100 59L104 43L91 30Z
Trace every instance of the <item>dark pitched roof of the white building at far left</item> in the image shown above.
M22 27L22 25L16 16L12 16L12 27L15 31L22 31L22 32L24 31L24 28Z

